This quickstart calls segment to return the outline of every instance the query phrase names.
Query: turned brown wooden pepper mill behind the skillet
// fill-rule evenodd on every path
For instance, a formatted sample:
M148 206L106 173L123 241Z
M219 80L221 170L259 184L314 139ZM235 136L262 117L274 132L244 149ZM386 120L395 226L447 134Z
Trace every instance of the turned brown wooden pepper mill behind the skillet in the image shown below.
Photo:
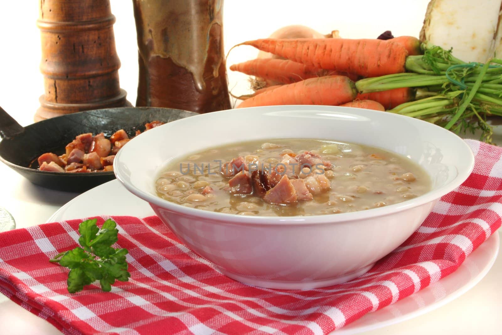
M40 0L45 94L35 121L131 105L120 88L109 0Z

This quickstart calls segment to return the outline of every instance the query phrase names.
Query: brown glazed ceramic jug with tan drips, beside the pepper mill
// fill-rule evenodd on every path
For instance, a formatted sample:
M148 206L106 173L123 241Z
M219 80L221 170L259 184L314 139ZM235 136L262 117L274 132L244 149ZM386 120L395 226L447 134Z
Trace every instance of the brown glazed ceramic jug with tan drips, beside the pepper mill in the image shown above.
M223 0L133 0L138 33L137 106L197 113L230 108Z

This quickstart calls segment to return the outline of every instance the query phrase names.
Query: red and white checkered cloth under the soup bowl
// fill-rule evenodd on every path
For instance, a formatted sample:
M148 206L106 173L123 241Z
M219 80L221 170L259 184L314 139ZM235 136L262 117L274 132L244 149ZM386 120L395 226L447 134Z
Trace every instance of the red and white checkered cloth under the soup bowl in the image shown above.
M48 260L77 246L78 219L0 234L0 292L71 334L326 334L452 273L500 227L502 149L467 143L476 156L468 180L402 246L344 284L247 286L188 250L159 218L115 216L129 282L68 293L68 270Z

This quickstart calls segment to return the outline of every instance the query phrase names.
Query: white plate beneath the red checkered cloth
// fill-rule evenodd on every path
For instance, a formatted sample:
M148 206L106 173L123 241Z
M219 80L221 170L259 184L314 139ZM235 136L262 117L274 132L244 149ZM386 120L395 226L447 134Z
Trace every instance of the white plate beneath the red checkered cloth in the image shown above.
M154 215L150 205L124 188L117 180L97 186L66 203L47 222L95 215ZM498 254L498 234L493 234L448 277L419 292L368 313L336 331L336 335L356 334L402 322L434 310L467 292L476 285L493 265Z

